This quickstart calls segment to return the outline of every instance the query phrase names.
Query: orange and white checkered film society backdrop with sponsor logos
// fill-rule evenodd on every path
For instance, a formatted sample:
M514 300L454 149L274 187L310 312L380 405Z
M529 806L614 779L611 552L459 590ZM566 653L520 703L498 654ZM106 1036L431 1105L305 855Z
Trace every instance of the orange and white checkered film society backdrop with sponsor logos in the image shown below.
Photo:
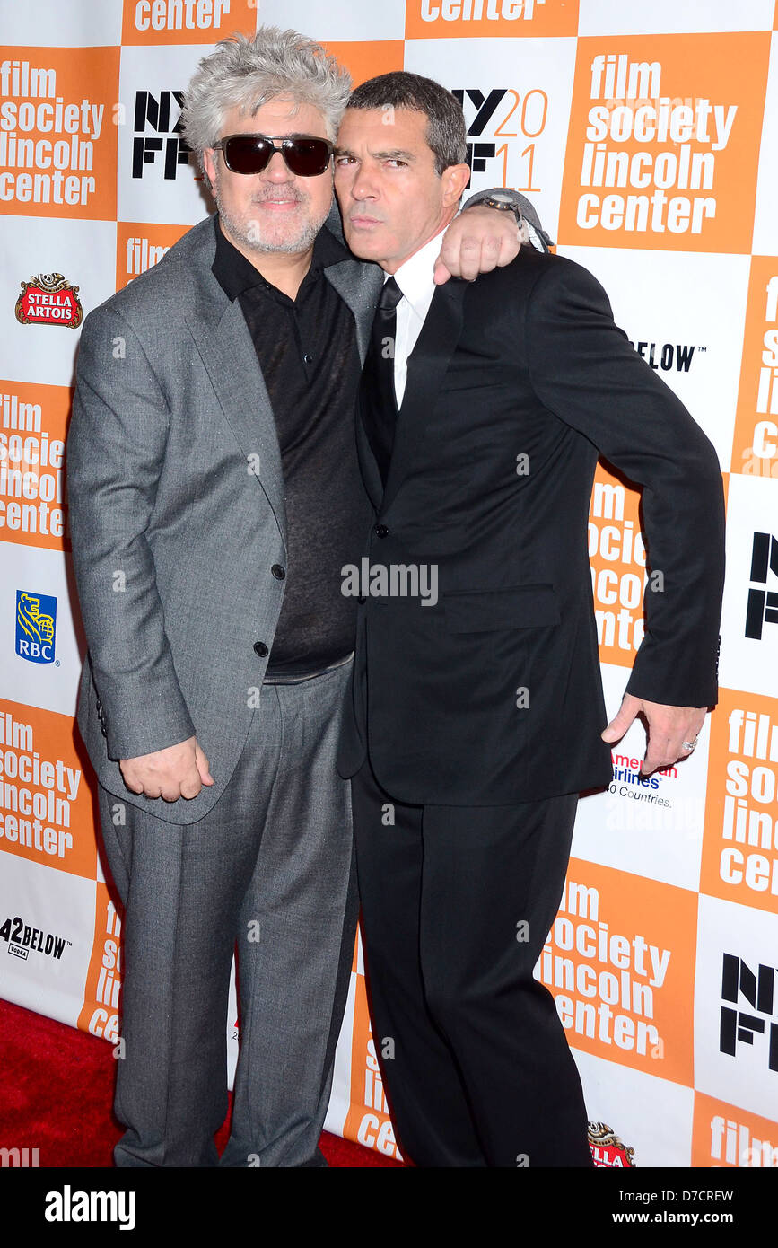
M640 725L613 750L610 789L580 802L536 975L597 1164L778 1166L774 0L5 0L0 24L0 993L118 1057L121 916L74 724L64 447L79 327L212 208L180 132L198 59L234 30L293 26L355 81L404 67L454 91L471 188L532 200L717 448L719 705L661 774L640 776ZM612 711L646 559L640 497L605 466L588 533ZM234 990L227 1030L232 1080ZM399 1156L359 947L327 1126Z

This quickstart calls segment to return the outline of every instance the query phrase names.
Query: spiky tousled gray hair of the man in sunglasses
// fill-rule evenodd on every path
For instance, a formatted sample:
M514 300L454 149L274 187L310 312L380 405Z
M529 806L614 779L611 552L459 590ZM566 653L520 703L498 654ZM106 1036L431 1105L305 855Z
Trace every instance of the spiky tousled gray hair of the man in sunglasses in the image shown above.
M231 109L253 116L276 96L289 96L318 109L334 141L350 89L348 70L297 30L259 26L251 39L236 32L219 40L194 71L185 91L183 136L208 181L202 154L221 139Z

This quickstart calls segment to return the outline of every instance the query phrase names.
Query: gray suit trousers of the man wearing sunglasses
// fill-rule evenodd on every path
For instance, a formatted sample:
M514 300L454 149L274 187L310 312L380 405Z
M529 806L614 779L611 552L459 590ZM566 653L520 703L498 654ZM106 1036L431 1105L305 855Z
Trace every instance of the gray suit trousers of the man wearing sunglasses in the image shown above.
M349 785L334 761L350 666L262 686L232 779L198 822L100 787L125 904L117 1166L219 1164L236 942L241 1050L221 1164L325 1164L358 909Z

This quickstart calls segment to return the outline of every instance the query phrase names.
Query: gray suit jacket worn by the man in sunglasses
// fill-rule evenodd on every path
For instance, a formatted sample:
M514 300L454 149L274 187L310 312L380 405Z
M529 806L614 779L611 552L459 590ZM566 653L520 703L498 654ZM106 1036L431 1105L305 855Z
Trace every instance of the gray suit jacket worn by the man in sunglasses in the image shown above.
M276 424L214 255L206 218L89 313L67 436L89 645L79 728L103 787L171 824L202 819L229 782L262 714L286 584L271 573L287 563ZM325 276L354 313L364 359L382 271L347 260ZM190 736L213 786L175 802L130 792L118 759Z

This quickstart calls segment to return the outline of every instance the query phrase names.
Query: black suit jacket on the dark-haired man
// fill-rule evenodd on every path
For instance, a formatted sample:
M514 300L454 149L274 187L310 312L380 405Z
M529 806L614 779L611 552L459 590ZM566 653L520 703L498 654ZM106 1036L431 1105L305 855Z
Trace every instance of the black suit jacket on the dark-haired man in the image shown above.
M643 487L648 559L663 579L646 592L627 689L675 705L716 701L716 452L585 268L527 250L475 283L438 287L409 359L385 490L359 418L358 439L377 508L370 565L435 564L439 600L363 603L343 775L369 749L391 796L440 805L610 781L587 557L598 452Z

